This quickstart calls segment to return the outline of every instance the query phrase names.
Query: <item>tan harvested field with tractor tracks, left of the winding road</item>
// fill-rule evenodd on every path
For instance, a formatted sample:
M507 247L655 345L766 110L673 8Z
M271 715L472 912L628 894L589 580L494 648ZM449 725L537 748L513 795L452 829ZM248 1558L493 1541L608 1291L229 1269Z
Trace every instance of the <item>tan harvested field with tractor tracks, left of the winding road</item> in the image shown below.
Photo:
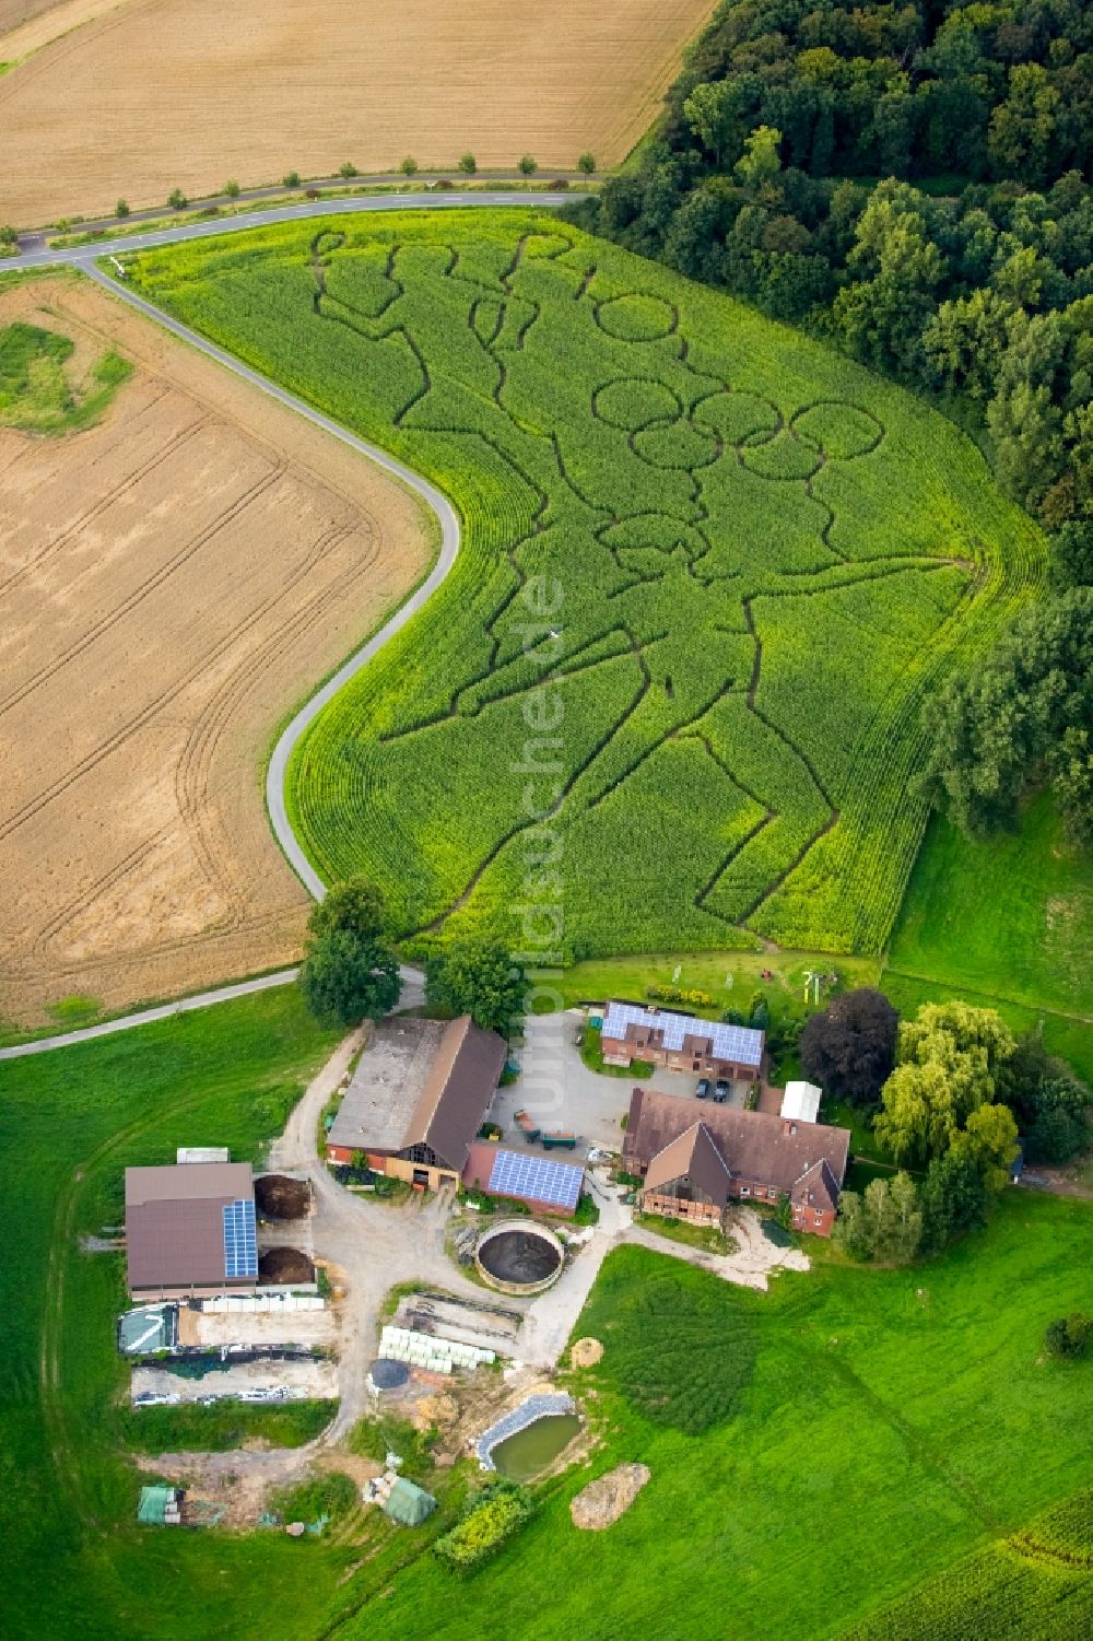
M72 381L133 364L82 432L0 425L0 1016L33 1026L299 955L264 755L432 533L392 479L94 286L0 287L16 322L39 353L41 331L75 343Z

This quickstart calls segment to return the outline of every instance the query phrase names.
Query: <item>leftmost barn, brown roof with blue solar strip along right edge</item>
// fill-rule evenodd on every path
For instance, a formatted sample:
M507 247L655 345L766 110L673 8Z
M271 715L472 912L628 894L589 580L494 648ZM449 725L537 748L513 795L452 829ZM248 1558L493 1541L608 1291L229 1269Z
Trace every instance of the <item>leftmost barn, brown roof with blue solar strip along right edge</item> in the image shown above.
M251 1293L258 1226L249 1162L126 1168L125 1244L135 1300Z

